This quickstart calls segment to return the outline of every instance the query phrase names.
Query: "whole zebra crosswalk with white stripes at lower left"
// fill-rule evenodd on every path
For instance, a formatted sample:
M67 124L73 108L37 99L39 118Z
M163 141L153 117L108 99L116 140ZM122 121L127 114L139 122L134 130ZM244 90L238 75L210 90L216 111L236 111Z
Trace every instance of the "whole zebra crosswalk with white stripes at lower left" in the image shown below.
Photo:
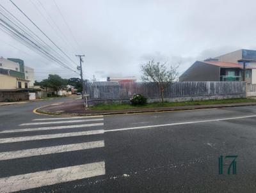
M81 124L83 122L86 123ZM45 127L38 127L38 125L45 125ZM80 164L75 166L72 163L71 166L66 166L67 162L65 162L69 158L68 153L74 152L79 155L79 153L84 154L89 150L90 152L103 151L105 146L103 134L103 116L38 118L20 123L17 128L1 130L0 167L1 163L3 166L10 163L10 168L14 167L12 164L17 162L12 162L12 160L18 160L21 164L20 167L25 162L31 162L36 166L31 166L32 169L22 168L17 171L17 174L13 174L13 172L10 175L0 173L0 193L35 189L104 175L106 171L102 157L93 157L90 160L81 157ZM97 139L93 136L97 136ZM51 142L57 139L59 144L53 143L52 146ZM46 146L45 143L42 143L45 140L48 140ZM35 143L38 143L36 148L33 146ZM8 149L9 146L12 148ZM57 154L63 157L64 163L60 166L56 164L49 168L50 166L46 166L43 161L33 162L34 159L42 158L43 160L43 157L49 159ZM92 159L95 161L92 162ZM52 161L54 162L54 160ZM28 164L24 165L28 166ZM36 168L35 171L31 171L33 168Z

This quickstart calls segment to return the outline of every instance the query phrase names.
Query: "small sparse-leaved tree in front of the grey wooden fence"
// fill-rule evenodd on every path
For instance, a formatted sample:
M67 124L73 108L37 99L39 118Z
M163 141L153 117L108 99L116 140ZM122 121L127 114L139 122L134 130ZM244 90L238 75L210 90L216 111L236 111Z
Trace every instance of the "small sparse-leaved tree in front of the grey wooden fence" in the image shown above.
M177 81L179 77L179 66L166 66L166 63L155 63L154 60L149 61L147 64L141 65L142 81L154 82L157 84L161 92L161 99L164 102L164 89Z

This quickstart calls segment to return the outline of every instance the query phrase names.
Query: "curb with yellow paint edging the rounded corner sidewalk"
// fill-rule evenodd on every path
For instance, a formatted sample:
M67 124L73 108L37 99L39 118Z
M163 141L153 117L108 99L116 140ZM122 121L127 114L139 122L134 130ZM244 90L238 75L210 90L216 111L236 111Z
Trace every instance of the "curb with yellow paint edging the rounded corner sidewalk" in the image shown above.
M153 113L153 112L172 112L172 111L191 111L198 109L216 109L216 108L228 108L228 107L244 107L244 106L253 106L256 103L248 103L248 104L236 104L236 105L218 105L218 106L209 106L209 107L186 107L180 109L156 109L156 110L143 110L143 111L124 111L124 112L102 112L102 113L63 113L63 112L47 112L42 111L40 109L44 107L48 107L51 105L47 105L44 107L39 107L34 109L33 112L36 114L44 114L49 116L98 116L98 115L118 115L118 114L141 114L141 113Z

